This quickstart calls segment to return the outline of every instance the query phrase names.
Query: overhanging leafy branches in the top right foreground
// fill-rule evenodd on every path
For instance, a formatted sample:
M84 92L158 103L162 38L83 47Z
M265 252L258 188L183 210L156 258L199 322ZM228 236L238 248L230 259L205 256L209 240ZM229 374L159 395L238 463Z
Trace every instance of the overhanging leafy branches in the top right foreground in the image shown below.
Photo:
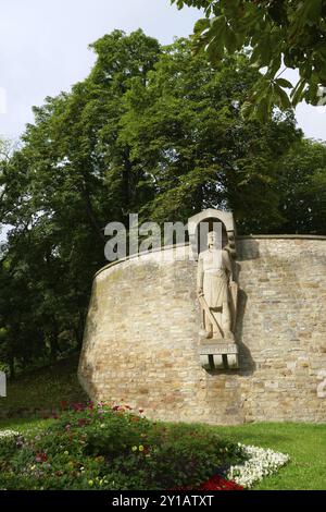
M251 64L266 69L243 105L243 113L265 119L273 106L296 107L305 100L326 103L326 0L172 0L203 9L195 26L197 48L212 62L248 48ZM281 74L299 71L292 86ZM287 94L290 89L290 98Z

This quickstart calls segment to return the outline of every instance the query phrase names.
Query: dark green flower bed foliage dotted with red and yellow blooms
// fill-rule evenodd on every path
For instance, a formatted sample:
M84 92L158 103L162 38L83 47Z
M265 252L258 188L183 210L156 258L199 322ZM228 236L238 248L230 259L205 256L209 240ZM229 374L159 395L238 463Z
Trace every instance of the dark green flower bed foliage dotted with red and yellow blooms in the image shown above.
M0 441L0 488L166 490L198 486L241 460L237 444L200 426L76 404L43 431Z

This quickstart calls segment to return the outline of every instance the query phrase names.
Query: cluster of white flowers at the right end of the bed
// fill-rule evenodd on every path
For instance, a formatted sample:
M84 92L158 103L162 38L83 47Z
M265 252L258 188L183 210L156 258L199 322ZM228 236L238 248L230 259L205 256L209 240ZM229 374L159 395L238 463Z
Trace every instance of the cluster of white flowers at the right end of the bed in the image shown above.
M255 481L272 475L289 461L289 455L252 446L238 443L248 455L248 461L228 470L227 478L250 488Z

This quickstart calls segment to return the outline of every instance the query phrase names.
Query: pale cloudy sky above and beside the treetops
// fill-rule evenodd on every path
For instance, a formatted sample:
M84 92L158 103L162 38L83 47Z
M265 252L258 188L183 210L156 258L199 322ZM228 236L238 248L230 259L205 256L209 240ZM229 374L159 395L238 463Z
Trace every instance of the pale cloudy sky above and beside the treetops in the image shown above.
M95 56L88 49L114 28L141 27L170 44L192 32L199 11L178 11L170 0L0 0L0 135L17 138L32 107L85 78ZM292 74L290 74L290 77ZM299 126L326 139L326 107L300 105Z

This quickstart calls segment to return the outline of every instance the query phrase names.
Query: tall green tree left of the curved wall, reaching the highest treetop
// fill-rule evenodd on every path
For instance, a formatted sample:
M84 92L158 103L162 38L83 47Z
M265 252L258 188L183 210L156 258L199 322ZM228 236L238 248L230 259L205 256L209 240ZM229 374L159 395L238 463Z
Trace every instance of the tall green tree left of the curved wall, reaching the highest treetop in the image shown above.
M68 350L64 332L80 346L92 276L105 264L104 227L126 221L142 200L142 172L118 141L118 122L129 83L146 81L160 45L141 31L114 31L91 48L90 75L35 108L23 147L1 162L0 222L12 229L2 255L11 308L0 304L0 327L12 333L18 364L29 349L55 359Z

